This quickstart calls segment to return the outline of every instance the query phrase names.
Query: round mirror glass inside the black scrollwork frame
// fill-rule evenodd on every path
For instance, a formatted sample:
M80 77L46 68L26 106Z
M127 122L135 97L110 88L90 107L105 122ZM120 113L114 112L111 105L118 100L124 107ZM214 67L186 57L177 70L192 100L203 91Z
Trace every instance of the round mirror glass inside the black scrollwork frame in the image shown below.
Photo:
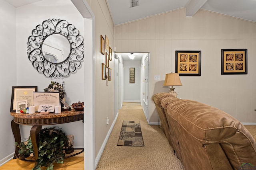
M42 54L51 63L61 63L68 58L70 43L61 34L49 35L42 44Z

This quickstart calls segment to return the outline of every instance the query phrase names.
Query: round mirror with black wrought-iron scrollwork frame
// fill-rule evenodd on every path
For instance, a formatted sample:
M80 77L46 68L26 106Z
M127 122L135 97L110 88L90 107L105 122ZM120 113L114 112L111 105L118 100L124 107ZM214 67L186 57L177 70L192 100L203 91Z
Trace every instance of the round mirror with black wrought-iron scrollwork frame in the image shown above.
M84 39L66 20L49 19L28 37L28 59L47 77L68 76L81 65Z

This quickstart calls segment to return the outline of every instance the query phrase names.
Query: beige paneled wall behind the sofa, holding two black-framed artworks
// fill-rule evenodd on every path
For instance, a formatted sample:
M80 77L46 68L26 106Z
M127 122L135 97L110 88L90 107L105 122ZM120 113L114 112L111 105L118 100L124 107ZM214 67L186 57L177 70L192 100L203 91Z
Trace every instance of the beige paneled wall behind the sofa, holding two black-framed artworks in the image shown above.
M185 9L114 27L116 52L150 52L150 98L175 72L175 51L202 51L201 76L180 76L178 98L197 100L230 113L241 122L256 122L256 23L199 10ZM248 49L248 74L221 75L221 49ZM160 75L161 80L154 80ZM158 114L150 100L150 123Z

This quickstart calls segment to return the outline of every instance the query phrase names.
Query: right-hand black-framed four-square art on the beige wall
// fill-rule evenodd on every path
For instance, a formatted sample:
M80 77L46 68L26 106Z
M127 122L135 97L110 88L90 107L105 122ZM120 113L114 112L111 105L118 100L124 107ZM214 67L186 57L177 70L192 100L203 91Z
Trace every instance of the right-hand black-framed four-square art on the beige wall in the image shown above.
M221 74L247 74L247 49L222 49Z

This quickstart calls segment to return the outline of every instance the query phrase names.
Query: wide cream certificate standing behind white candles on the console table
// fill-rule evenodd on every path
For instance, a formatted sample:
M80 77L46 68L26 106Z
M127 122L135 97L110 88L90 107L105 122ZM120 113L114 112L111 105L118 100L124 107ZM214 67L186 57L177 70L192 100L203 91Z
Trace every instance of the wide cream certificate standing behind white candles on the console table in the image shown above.
M60 105L59 92L33 92L33 98L36 110L40 105Z

